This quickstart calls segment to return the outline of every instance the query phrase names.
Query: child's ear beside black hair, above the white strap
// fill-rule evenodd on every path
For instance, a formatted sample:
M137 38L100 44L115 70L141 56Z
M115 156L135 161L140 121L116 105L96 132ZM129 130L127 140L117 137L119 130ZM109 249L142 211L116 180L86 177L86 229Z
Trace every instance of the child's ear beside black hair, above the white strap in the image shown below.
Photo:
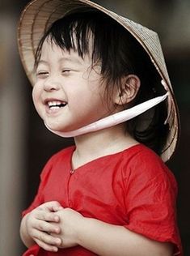
M115 103L117 105L125 105L132 101L141 85L137 75L127 75L121 79L120 91L116 93Z

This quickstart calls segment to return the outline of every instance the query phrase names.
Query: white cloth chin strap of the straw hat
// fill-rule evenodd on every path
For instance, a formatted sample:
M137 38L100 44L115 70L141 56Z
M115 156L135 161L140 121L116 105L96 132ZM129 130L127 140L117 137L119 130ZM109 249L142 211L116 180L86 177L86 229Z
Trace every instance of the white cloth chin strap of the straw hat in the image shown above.
M83 126L77 130L61 132L61 131L50 129L49 126L47 126L45 123L44 125L54 134L57 134L61 137L65 137L65 138L76 137L78 135L87 134L93 131L103 130L108 127L116 126L122 122L132 119L133 117L137 117L141 113L146 112L146 110L153 108L155 105L158 105L160 102L165 100L168 95L169 93L167 92L163 96L158 96L151 100L147 100L139 105L134 106L131 109L125 109L121 112L114 113L111 116L104 117L99 121L93 122L87 126Z

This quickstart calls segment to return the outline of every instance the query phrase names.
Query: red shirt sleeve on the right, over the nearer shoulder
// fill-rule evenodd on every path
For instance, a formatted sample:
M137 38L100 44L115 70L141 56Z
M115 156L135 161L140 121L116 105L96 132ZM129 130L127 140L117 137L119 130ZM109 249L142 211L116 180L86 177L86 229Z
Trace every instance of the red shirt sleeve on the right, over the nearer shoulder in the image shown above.
M181 255L175 215L175 177L152 151L139 153L130 161L129 169L130 174L125 177L129 224L125 227L156 241L171 242L175 245L174 255Z

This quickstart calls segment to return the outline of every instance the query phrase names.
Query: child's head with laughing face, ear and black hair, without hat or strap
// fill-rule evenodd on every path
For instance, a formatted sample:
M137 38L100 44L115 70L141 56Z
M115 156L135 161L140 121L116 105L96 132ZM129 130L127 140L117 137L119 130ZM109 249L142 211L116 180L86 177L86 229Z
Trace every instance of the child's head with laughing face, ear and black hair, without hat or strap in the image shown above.
M35 67L34 103L51 130L75 130L165 92L139 42L114 19L91 8L67 13L48 28L36 49ZM154 107L152 118L150 112L143 117L149 120L146 126L139 116L125 122L125 130L160 154L169 131L164 124L167 104Z

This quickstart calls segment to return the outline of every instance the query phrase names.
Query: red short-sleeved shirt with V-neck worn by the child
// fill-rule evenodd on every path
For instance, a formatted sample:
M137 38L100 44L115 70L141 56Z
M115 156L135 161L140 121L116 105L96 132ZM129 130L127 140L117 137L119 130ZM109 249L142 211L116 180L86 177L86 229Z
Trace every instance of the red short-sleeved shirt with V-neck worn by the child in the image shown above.
M58 201L83 216L125 226L156 241L171 242L174 255L182 255L175 218L175 177L153 151L138 144L92 160L72 174L74 149L59 151L48 161L40 175L36 198L23 215L44 202ZM81 246L50 253L37 245L24 256L31 254L96 255Z

